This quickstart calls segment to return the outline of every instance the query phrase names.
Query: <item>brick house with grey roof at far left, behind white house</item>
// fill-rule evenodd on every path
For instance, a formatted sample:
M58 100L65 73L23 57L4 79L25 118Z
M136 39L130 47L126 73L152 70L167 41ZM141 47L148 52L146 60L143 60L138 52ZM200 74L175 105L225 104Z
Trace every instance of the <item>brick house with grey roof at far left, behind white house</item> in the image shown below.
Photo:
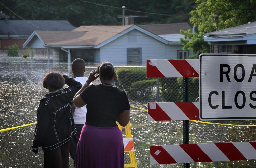
M19 49L35 30L71 31L67 20L0 20L0 49L17 44Z

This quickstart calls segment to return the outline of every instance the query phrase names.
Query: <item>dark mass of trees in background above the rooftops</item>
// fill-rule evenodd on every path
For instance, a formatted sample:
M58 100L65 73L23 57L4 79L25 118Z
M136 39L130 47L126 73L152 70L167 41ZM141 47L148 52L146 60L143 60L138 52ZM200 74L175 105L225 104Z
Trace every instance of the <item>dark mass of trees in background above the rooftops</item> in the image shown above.
M27 20L68 20L74 26L81 25L121 25L121 6L135 11L145 11L175 16L162 16L134 11L125 11L125 15L147 15L148 18L136 18L135 24L188 22L189 12L195 7L195 0L87 0L89 2L115 6L99 6L81 0L2 0L13 12ZM0 10L20 19L0 5ZM176 16L179 17L176 17Z

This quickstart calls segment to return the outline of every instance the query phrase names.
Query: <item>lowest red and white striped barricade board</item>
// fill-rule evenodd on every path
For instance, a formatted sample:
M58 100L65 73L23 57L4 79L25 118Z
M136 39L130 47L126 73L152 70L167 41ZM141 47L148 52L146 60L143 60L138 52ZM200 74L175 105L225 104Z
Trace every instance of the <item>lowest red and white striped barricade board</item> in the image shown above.
M150 147L150 164L256 159L256 142L199 143Z

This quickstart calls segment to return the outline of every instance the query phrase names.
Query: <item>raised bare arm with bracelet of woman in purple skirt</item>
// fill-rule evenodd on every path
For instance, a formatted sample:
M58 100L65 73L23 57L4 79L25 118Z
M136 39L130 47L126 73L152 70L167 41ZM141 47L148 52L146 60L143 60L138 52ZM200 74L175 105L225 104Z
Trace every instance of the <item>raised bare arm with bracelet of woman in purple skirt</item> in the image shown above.
M84 105L86 105L86 102L83 101L82 97L80 96L80 93L83 92L84 89L87 88L91 82L93 82L95 79L97 79L99 77L99 74L97 76L95 76L96 73L97 73L96 70L91 71L88 76L87 81L84 83L82 88L75 94L75 96L73 98L73 104L76 107L83 107Z

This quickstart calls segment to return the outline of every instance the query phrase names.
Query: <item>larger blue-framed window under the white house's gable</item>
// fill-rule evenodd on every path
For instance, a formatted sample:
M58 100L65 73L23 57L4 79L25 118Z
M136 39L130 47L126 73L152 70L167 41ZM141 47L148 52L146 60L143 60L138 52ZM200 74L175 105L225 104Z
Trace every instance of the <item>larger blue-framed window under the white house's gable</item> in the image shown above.
M137 66L141 64L141 48L127 48L127 64Z

